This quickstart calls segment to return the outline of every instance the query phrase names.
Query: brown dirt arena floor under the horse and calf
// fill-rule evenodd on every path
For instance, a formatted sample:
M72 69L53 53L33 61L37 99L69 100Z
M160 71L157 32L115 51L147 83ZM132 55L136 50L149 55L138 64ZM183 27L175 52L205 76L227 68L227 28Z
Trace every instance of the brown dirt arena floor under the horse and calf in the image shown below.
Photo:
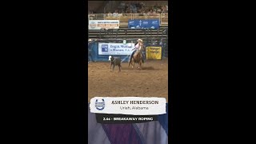
M93 97L161 97L168 102L168 59L146 60L142 70L122 62L110 71L110 62L88 64L88 102Z

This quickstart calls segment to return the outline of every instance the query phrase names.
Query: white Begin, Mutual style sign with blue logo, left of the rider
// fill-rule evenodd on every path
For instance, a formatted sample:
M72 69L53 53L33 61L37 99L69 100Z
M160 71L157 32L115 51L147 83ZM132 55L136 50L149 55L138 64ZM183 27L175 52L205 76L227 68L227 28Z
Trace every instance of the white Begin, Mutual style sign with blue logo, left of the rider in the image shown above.
M98 42L98 54L100 55L128 55L132 53L134 43L102 43Z

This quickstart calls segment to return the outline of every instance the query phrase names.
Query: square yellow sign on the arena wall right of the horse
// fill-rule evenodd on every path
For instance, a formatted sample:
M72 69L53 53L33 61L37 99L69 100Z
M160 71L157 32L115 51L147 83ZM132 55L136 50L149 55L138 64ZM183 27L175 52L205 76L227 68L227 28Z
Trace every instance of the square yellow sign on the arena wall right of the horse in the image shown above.
M162 46L146 46L146 59L162 59Z

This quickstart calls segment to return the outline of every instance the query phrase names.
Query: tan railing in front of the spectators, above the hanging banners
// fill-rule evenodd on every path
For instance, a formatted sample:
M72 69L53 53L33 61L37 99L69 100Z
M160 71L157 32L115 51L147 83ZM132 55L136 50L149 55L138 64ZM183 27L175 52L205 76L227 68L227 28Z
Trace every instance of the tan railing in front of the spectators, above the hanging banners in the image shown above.
M120 25L128 25L128 20L159 19L160 25L168 25L168 13L161 14L89 14L89 20L119 20Z

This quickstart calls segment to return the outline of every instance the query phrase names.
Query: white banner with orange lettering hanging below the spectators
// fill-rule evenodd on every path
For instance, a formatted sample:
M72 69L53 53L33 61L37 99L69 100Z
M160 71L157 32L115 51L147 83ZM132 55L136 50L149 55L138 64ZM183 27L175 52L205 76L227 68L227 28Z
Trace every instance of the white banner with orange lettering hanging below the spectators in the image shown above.
M89 30L119 29L119 20L89 20Z

